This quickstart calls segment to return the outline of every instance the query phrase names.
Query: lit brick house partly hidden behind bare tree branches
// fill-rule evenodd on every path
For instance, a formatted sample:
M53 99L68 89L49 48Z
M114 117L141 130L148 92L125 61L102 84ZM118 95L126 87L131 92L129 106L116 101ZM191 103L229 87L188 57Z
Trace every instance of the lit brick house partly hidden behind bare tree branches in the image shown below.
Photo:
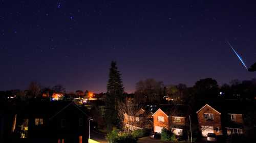
M153 130L153 113L144 109L138 110L134 116L124 114L124 124L129 129Z

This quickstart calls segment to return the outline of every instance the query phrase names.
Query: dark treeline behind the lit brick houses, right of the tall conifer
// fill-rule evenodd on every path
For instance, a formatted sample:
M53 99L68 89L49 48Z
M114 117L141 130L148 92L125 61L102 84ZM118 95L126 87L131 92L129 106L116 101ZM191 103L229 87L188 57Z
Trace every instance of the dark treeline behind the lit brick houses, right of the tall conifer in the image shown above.
M256 97L256 79L231 80L229 84L219 85L217 80L205 78L196 81L193 87L186 84L164 85L155 79L140 80L136 83L135 101L140 104L158 104L180 102L195 104L197 102L219 99L253 100Z

